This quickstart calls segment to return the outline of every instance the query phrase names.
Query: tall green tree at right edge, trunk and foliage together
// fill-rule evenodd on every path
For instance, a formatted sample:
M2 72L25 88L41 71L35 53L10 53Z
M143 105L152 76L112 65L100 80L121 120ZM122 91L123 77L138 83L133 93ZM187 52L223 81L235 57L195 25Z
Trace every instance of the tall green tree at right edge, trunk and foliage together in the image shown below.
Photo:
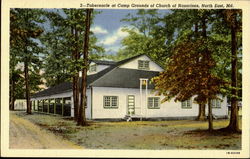
M219 63L217 71L219 76L231 82L231 86L226 90L228 99L231 101L230 123L222 130L240 132L237 101L242 96L242 75L239 72L242 69L242 12L241 10L217 10L215 17L212 30L215 33L214 37L221 43L220 47L215 48L217 63Z

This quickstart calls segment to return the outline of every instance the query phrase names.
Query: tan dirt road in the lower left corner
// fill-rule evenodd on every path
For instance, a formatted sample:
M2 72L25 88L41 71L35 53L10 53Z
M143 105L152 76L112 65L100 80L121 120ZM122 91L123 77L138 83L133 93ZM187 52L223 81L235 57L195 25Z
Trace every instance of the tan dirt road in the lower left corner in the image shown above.
M70 141L41 129L28 120L10 113L11 149L79 149Z

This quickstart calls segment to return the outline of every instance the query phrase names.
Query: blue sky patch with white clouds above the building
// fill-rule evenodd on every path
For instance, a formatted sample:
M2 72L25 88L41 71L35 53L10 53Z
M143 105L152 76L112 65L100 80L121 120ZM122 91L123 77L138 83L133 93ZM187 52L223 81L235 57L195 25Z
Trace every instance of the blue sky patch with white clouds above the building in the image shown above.
M98 9L101 11L94 19L94 24L91 26L91 31L98 38L98 44L105 48L106 54L116 54L121 47L121 40L125 38L128 33L121 29L124 26L129 26L127 22L121 22L128 13L136 14L137 10L127 9ZM160 13L167 10L161 10Z

